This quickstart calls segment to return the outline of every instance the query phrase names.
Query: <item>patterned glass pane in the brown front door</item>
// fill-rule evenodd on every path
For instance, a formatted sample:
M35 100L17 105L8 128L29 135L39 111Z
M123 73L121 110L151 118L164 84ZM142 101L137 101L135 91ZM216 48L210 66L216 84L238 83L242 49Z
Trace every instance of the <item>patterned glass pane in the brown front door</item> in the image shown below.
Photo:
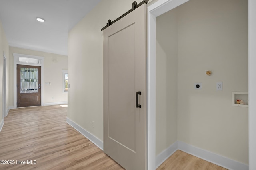
M20 68L20 93L38 93L38 68Z

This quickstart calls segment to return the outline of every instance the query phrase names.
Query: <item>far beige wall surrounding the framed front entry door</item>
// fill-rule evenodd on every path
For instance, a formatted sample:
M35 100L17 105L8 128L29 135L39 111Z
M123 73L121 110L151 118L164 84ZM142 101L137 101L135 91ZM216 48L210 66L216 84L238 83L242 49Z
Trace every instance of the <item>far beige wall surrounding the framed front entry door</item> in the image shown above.
M10 47L10 98L9 103L13 106L13 53L35 55L44 57L44 82L51 82L51 85L44 85L44 104L53 102L67 102L68 94L62 91L62 70L68 70L68 57L41 51L33 51ZM52 99L52 97L54 99Z

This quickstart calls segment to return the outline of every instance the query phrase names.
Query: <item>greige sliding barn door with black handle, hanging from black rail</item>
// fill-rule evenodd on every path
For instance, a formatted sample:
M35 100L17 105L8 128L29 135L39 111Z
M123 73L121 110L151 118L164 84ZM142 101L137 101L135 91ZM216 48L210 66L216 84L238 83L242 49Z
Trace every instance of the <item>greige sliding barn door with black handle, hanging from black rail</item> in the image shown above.
M146 5L104 29L104 152L145 170Z

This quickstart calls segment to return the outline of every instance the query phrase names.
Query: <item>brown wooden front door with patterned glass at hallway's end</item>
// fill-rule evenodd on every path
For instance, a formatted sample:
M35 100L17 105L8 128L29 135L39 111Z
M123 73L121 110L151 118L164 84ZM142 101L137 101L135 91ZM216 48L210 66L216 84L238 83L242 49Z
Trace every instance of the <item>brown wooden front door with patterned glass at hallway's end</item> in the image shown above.
M17 107L41 106L41 67L17 65Z

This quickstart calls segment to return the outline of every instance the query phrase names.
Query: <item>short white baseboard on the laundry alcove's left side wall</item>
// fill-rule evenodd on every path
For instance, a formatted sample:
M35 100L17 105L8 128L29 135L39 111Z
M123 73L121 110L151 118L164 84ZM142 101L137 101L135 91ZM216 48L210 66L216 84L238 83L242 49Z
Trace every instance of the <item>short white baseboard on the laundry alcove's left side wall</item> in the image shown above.
M173 143L166 150L162 151L156 156L156 168L158 168L164 161L166 161L174 152L178 150L178 141Z

